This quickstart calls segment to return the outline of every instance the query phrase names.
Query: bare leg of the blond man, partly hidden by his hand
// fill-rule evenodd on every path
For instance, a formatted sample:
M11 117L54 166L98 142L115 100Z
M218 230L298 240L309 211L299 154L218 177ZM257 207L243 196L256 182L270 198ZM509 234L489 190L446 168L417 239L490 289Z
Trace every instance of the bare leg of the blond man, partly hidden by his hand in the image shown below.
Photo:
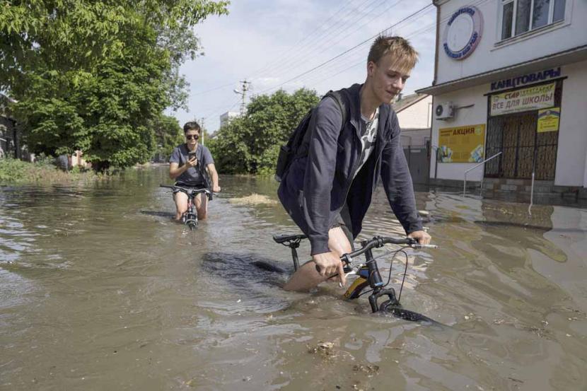
M328 248L337 257L351 252L351 243L349 243L347 235L344 235L342 228L330 228L328 231ZM284 289L286 291L308 291L308 289L314 288L327 279L327 276L320 276L316 271L316 264L310 261L298 268L294 275L291 276L291 279L287 281Z

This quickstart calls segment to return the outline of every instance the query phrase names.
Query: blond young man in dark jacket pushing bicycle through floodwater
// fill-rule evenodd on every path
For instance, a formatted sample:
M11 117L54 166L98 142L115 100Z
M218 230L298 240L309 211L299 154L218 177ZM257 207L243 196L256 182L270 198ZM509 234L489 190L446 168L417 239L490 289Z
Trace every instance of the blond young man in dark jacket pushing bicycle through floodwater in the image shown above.
M408 236L420 244L430 242L417 214L400 125L390 106L417 56L402 37L378 37L368 54L365 83L339 91L347 115L330 97L315 108L309 140L301 147L307 153L296 155L278 190L281 204L310 239L313 262L300 267L285 289L304 291L334 274L346 283L339 257L351 252L379 177Z

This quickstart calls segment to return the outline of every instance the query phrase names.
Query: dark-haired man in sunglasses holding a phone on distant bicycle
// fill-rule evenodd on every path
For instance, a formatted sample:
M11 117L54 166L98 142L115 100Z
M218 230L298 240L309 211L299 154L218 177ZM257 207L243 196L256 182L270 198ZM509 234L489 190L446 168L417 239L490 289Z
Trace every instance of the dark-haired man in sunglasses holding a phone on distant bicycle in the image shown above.
M175 185L184 187L209 187L209 180L206 170L211 178L212 192L220 192L218 185L218 173L214 166L214 159L208 148L200 145L198 142L202 134L202 129L197 122L187 122L183 125L185 134L185 144L180 144L173 149L169 158L169 176L175 179ZM175 220L180 220L182 215L187 211L187 194L175 190L173 192L175 201ZM198 219L206 218L208 211L208 202L202 194L197 194L194 198Z

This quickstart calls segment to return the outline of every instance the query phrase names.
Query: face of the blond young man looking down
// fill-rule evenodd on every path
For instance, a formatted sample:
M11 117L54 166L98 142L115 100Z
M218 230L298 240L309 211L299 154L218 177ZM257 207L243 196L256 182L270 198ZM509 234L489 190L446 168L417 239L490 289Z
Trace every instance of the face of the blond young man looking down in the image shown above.
M394 59L391 54L381 57L379 64L367 64L373 93L381 103L390 103L403 90L411 71L412 69L402 64L401 60Z

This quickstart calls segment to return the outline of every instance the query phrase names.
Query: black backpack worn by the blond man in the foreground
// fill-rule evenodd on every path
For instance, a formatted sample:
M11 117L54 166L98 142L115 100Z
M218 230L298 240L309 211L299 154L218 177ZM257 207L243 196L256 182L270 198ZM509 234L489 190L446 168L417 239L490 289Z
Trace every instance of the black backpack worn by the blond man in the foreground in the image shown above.
M340 112L342 112L342 127L344 128L344 124L347 123L348 109L347 98L345 98L343 95L344 94L340 91L329 91L322 97L322 99L327 98L328 96L334 98L340 109ZM279 148L279 156L277 157L277 165L275 168L275 180L277 180L277 182L281 182L281 179L283 179L284 175L286 175L291 162L294 161L294 158L308 155L308 150L306 149L301 151L300 146L304 142L309 142L310 140L311 132L307 132L307 130L314 110L316 110L316 107L313 107L306 113L306 115L304 115L294 132L292 132L289 136L287 144L282 145L281 148Z

